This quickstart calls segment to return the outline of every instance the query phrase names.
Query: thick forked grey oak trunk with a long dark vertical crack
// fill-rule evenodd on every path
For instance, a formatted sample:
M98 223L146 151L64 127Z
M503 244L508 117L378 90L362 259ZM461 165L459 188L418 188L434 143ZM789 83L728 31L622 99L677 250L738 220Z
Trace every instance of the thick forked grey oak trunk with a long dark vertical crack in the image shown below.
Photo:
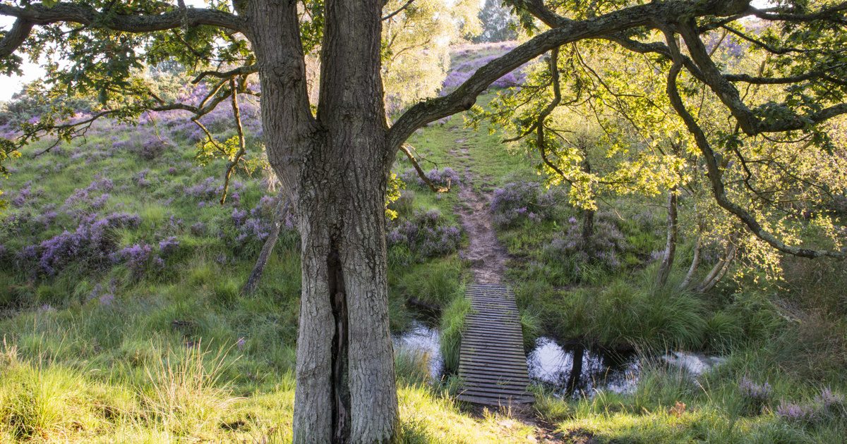
M384 206L396 147L379 76L382 3L326 2L317 116L297 3L247 5L268 160L295 204L302 244L294 442L388 442L397 399Z

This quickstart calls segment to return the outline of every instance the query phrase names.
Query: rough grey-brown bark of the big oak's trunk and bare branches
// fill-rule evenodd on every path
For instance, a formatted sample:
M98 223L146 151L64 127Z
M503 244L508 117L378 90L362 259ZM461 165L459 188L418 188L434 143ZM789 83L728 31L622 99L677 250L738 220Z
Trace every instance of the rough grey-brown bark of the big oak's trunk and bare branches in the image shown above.
M379 78L383 0L324 3L323 14L319 16L324 20L324 40L320 45L317 116L313 115L307 95L299 25L302 11L298 11L302 3L233 0L235 14L225 8L186 8L184 2L177 2L178 6L172 8L167 2L141 2L144 5L139 8L112 8L113 3L102 6L98 2L74 1L0 3L0 15L15 19L13 27L0 38L0 58L8 57L19 47L42 51L47 44L61 46L64 43L61 37L44 40L55 34L51 32L28 38L36 26L43 25L138 34L210 26L241 33L250 41L255 63L251 60L252 64L228 72L202 73L197 81L204 75L232 79L259 74L268 159L291 205L296 207L302 239L303 286L297 342L295 442L385 442L394 434L397 407L387 316L383 205L387 174L396 151L425 123L472 107L476 97L492 82L523 63L545 52L551 52L551 62L555 62L557 48L569 43L604 39L635 52L652 52L672 59L667 94L706 159L717 203L745 222L756 236L783 252L804 257L847 256L845 251L786 245L765 230L754 215L730 200L715 152L686 109L676 85L680 70L687 69L715 91L741 129L750 135L805 129L810 124L847 114L847 104L840 103L806 114L789 112L784 117L757 118L729 83L745 77L722 74L700 41L702 30L695 21L706 16L740 19L745 15L803 21L839 13L839 5L810 15L756 9L750 7L750 0L674 0L639 3L586 19L568 19L547 8L544 2L515 2L551 29L486 63L449 94L418 102L387 129ZM130 2L121 3L128 6ZM144 12L147 6L152 13ZM668 30L667 25L673 29ZM641 27L644 27L641 30L667 32L666 44L642 43L630 38L634 34L628 31ZM687 55L680 52L673 38L677 32L689 48ZM8 67L19 68L19 63L13 61ZM557 70L554 72L557 79ZM199 118L211 112L226 94L237 92L230 82L228 93L208 97L208 103L202 107L163 103L150 109L182 109ZM557 95L556 102L558 98ZM121 107L103 110L87 120L58 124L53 131L64 131L63 137L79 135L67 131L123 111ZM543 140L543 118L540 123L537 131ZM33 131L21 136L19 141L30 140L40 130ZM541 153L545 156L543 149ZM734 247L731 253L710 282L717 282L727 272Z

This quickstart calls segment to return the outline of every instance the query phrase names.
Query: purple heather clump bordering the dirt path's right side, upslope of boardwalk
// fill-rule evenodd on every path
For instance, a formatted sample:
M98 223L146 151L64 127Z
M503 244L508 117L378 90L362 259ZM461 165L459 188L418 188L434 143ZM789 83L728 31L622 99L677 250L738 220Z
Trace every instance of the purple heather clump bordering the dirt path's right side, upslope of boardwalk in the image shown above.
M494 190L490 211L495 224L511 227L519 222L541 222L552 216L552 191L533 182L512 182Z

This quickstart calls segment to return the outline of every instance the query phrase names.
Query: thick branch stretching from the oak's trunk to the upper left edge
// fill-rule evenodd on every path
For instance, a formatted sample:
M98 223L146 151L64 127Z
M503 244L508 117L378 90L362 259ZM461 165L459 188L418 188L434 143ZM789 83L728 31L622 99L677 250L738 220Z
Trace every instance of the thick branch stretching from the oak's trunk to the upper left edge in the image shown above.
M115 14L98 11L81 3L60 2L52 7L34 3L23 8L0 4L0 15L23 19L33 25L76 23L125 32L152 32L197 25L218 26L240 32L246 28L241 17L207 8L174 8L161 14Z

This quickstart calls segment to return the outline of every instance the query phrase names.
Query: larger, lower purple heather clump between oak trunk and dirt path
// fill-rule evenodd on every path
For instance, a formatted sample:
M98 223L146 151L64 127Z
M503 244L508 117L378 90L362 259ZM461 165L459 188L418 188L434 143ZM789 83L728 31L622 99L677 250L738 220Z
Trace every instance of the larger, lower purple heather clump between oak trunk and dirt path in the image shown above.
M438 210L416 211L409 219L390 223L393 227L386 235L389 246L405 246L420 259L449 255L462 243L462 230L446 225Z

